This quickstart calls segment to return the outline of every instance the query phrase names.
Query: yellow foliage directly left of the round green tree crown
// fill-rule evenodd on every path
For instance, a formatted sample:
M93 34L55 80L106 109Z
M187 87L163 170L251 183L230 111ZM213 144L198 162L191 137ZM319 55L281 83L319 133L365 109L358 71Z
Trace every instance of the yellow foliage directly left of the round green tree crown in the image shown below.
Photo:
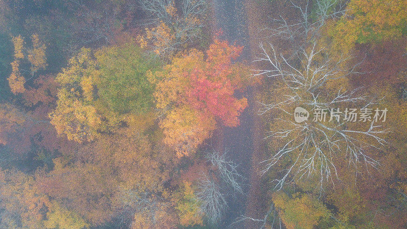
M69 61L69 68L56 77L58 91L56 109L49 114L57 133L65 133L78 142L95 139L100 131L109 131L119 122L114 116L102 121L102 114L94 105L94 78L99 72L91 56L91 50L82 48Z

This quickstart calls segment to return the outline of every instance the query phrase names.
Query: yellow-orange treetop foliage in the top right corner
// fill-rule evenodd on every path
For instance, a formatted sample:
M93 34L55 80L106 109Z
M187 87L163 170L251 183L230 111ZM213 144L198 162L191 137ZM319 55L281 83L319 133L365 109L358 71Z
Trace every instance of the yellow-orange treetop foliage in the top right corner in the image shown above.
M355 43L400 37L405 33L406 6L404 0L352 0L347 4L347 14L336 26L330 26L330 36L338 49L344 50Z

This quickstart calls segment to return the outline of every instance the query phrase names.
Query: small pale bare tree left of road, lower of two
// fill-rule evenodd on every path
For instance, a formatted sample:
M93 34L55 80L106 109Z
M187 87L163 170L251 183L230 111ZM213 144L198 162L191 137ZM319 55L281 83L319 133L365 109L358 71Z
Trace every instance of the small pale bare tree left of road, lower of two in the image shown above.
M217 225L227 209L226 197L220 192L217 183L206 176L198 186L200 191L196 196L201 202L201 211L212 225Z

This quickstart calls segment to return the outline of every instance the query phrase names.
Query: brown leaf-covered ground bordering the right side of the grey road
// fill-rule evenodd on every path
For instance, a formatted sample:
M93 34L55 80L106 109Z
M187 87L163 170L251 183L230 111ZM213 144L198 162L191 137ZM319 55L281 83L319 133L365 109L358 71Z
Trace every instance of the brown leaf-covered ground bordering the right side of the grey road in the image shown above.
M239 1L239 0L237 0ZM244 60L252 62L261 52L259 48L260 43L276 42L271 36L270 31L265 28L272 26L271 18L277 18L280 15L287 20L295 20L297 15L288 1L273 2L270 0L242 0L240 1L240 7L242 15L245 19L245 25L243 26L246 36L244 37L245 50L248 53L244 53ZM284 44L280 44L284 48ZM256 67L256 63L250 63L253 67ZM265 88L268 88L268 84L273 83L272 80L265 80L262 84L254 85L250 89L250 96L248 97L248 103L250 104L248 116L250 117L250 137L251 153L250 153L250 174L247 174L249 178L249 190L247 190L245 215L254 219L264 219L266 212L269 210L269 195L267 190L270 187L264 182L264 177L260 176L261 165L259 162L264 159L265 150L267 150L267 142L264 137L266 136L265 126L263 122L268 120L269 117L260 117L257 115L259 110L258 95L263 93ZM243 116L244 114L242 114ZM266 116L266 114L264 115ZM242 117L246 119L246 117ZM244 125L242 122L241 125ZM259 228L263 224L260 221L246 221L245 228Z

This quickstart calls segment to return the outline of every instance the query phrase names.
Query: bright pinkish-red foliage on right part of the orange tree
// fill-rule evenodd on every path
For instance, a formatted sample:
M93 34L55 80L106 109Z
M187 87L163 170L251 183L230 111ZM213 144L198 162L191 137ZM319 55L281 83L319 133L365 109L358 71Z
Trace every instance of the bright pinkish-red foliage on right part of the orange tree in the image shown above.
M248 78L232 63L242 49L242 46L231 46L227 41L214 39L207 51L205 69L196 68L189 75L189 105L204 113L209 112L231 127L239 125L238 117L247 106L246 98L237 99L234 96L236 90L246 86L242 83L242 77Z

